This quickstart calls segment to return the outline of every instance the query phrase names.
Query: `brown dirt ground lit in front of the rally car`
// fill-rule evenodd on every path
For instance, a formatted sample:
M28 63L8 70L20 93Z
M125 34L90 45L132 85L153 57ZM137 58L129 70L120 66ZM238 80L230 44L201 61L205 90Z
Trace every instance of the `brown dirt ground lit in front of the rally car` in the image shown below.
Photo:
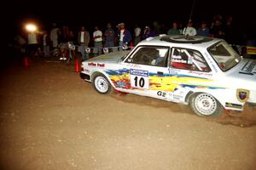
M133 94L97 94L74 64L1 72L0 169L256 169L256 108L196 116Z

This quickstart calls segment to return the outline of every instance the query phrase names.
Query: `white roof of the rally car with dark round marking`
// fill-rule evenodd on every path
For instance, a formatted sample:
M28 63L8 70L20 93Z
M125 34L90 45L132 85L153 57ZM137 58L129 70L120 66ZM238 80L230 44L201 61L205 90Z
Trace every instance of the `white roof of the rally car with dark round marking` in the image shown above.
M147 39L140 42L140 45L160 45L160 46L171 46L171 47L183 47L190 48L191 46L198 48L208 48L212 44L221 41L219 38L213 37L199 37L199 36L167 36L160 35L158 37L148 37Z

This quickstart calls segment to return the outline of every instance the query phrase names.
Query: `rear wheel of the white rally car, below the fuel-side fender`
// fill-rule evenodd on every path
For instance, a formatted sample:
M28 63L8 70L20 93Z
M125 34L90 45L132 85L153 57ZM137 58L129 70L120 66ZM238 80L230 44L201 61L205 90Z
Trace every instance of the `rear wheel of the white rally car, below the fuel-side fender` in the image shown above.
M189 105L198 116L218 116L223 110L222 105L211 94L193 94Z

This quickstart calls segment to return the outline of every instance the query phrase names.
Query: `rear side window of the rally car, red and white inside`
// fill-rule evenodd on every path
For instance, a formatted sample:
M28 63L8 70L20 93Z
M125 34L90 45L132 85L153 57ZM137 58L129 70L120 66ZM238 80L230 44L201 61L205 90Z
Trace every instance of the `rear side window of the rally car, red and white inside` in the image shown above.
M200 52L186 48L172 48L171 67L189 71L211 71Z

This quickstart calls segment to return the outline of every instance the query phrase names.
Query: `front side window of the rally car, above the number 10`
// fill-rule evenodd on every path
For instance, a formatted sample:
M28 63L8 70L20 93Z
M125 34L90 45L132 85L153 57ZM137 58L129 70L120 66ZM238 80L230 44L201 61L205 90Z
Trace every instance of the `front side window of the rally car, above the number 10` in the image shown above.
M140 47L125 62L166 67L168 52L167 47Z

